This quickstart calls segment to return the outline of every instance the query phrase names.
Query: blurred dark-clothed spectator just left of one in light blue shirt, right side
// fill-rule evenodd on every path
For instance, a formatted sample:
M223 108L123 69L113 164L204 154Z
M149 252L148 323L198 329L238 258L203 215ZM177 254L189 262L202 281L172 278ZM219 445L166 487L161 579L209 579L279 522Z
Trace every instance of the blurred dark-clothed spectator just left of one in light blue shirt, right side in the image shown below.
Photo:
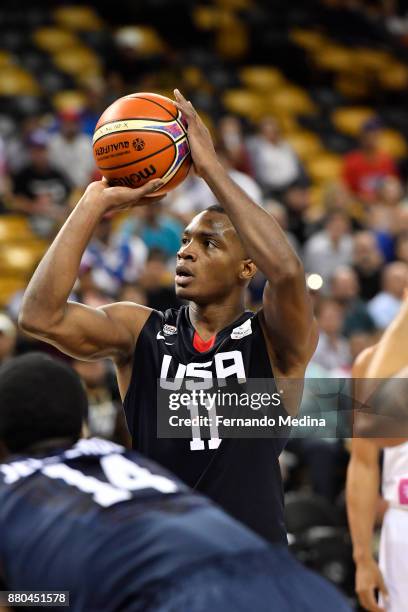
M381 289L381 275L384 260L372 232L362 231L353 239L353 268L360 285L360 296L371 300Z

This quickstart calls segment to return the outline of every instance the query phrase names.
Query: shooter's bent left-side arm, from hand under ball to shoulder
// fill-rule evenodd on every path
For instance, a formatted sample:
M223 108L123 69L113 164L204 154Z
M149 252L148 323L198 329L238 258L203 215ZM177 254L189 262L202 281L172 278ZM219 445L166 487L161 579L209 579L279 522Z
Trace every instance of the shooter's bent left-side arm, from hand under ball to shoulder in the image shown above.
M107 213L151 203L162 186L150 181L139 189L91 183L41 260L24 294L19 325L25 332L82 359L126 359L150 310L118 303L90 308L68 301L82 255Z

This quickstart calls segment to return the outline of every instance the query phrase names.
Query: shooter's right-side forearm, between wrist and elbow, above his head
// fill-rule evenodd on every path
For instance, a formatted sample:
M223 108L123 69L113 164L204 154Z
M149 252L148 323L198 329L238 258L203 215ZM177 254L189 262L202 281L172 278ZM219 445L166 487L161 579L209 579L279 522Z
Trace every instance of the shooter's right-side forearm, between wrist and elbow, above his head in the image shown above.
M205 168L201 174L228 213L248 257L268 280L302 271L302 263L278 222L246 195L221 164Z

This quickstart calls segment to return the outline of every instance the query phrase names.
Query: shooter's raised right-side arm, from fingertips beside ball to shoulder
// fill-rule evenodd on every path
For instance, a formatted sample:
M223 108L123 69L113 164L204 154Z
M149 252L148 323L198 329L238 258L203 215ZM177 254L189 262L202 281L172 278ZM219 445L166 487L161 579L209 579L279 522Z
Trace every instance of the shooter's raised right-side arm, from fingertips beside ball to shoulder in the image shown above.
M282 375L301 377L317 343L302 262L272 215L251 200L219 163L209 131L191 103L178 90L174 93L188 123L197 173L227 211L248 257L267 278L263 316L274 366Z

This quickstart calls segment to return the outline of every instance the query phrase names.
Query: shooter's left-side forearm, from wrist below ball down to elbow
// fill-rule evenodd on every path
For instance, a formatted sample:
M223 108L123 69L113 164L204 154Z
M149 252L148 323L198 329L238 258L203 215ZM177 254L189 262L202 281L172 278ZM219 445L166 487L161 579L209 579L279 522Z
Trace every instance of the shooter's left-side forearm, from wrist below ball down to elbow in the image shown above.
M28 284L19 317L27 332L46 332L63 317L82 255L103 214L88 204L81 198Z

